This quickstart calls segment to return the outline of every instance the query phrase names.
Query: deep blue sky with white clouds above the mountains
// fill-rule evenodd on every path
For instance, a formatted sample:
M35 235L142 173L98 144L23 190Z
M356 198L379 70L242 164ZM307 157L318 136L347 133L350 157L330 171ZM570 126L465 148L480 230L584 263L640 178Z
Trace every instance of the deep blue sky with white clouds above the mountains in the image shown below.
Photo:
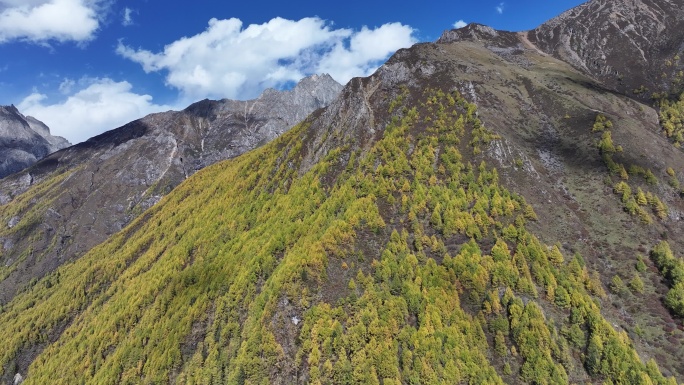
M458 21L532 29L581 0L0 0L0 104L72 143L203 98L372 73Z

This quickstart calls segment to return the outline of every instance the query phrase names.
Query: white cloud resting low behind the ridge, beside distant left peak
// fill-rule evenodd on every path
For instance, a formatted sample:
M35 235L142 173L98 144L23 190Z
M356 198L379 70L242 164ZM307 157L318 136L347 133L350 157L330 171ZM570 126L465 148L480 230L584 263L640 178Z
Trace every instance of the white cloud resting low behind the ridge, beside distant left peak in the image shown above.
M131 92L132 86L126 81L103 78L83 79L79 83L84 88L62 102L47 103L46 95L34 92L17 108L43 121L53 135L63 136L74 144L147 114L172 109L154 104L150 95Z

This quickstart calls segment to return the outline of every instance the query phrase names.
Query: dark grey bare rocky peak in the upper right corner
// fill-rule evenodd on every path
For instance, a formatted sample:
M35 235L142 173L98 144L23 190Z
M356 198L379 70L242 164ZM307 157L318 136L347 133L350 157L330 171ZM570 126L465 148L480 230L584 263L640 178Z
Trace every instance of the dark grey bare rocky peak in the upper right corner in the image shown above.
M612 89L670 91L684 67L684 1L592 0L528 33L546 53ZM663 76L665 74L666 76ZM680 88L677 87L677 90Z

